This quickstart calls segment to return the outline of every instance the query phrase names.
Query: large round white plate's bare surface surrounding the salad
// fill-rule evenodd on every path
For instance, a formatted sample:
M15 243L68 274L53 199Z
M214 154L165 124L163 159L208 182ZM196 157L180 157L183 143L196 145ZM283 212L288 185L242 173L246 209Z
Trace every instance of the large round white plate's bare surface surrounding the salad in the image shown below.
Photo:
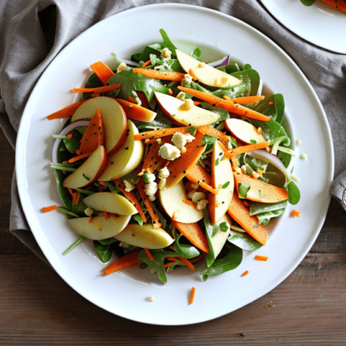
M203 42L212 51L217 48L224 52L221 55L231 53L257 69L269 89L284 95L291 134L302 140L297 153L308 155L306 161L297 158L295 162L302 199L294 208L302 212L301 216L290 217L293 206L289 206L268 245L256 251L269 256L268 262L258 262L253 260L254 253L244 253L238 268L209 277L206 282L199 272L188 268L168 274L165 285L151 282L148 271L137 268L102 277L104 264L95 259L88 246L78 246L62 255L77 238L65 216L40 212L43 206L60 203L49 163L51 134L60 131L62 122L45 117L73 102L71 89L83 84L91 71L90 64L107 62L111 51L129 57L138 47L160 40L160 28L172 39ZM203 44L199 46L206 51ZM26 105L18 134L16 167L21 203L30 228L55 271L75 291L99 307L131 320L188 325L223 316L260 298L298 266L325 220L334 156L321 104L307 78L286 53L257 30L228 15L201 7L160 4L127 10L101 21L55 58ZM250 273L241 277L246 270ZM197 291L194 304L189 305L192 286ZM154 302L146 300L151 295Z

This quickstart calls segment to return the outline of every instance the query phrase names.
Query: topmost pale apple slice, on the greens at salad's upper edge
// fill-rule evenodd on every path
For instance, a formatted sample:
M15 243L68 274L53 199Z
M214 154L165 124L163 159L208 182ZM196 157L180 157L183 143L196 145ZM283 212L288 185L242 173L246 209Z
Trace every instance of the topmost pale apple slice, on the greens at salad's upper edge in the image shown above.
M215 69L215 67L212 67L205 62L200 62L199 60L194 59L191 55L179 51L179 49L176 49L175 53L183 70L186 73L189 73L189 71L192 70L199 82L203 84L215 86L217 88L229 88L230 86L235 86L242 82L233 75Z

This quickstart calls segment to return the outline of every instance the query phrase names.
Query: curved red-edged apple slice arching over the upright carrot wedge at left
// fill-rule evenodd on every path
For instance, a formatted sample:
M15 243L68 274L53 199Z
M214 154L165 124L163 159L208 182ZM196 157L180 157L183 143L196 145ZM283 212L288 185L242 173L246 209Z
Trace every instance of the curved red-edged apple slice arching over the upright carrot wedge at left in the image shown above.
M124 109L113 98L98 96L84 102L73 113L71 122L93 118L96 109L101 113L105 131L107 155L112 155L125 143L127 117Z

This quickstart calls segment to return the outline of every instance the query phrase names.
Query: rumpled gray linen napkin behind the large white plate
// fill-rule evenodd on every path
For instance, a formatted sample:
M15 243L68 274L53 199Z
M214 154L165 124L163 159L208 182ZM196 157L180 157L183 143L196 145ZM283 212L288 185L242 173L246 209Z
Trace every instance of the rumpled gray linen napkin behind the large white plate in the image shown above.
M203 6L237 17L270 37L293 58L327 113L334 138L335 174L341 174L332 185L331 194L342 201L346 186L346 56L291 33L266 11L260 0L1 0L0 126L12 147L30 92L66 44L86 28L122 10L163 2ZM21 209L15 176L10 231L45 260Z

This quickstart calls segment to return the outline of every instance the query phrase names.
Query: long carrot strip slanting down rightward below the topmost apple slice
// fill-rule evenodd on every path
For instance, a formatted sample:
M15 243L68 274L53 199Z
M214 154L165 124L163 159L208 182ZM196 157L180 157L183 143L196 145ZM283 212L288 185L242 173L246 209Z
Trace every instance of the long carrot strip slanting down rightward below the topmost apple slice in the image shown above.
M264 116L264 114L262 113L244 107L241 104L237 104L233 101L224 100L223 98L219 98L215 95L209 95L208 93L204 93L203 91L186 88L185 86L178 86L178 89L212 104L213 107L220 107L226 109L226 111L235 113L239 116L246 116L247 118L253 118L262 121L271 120L269 116Z

